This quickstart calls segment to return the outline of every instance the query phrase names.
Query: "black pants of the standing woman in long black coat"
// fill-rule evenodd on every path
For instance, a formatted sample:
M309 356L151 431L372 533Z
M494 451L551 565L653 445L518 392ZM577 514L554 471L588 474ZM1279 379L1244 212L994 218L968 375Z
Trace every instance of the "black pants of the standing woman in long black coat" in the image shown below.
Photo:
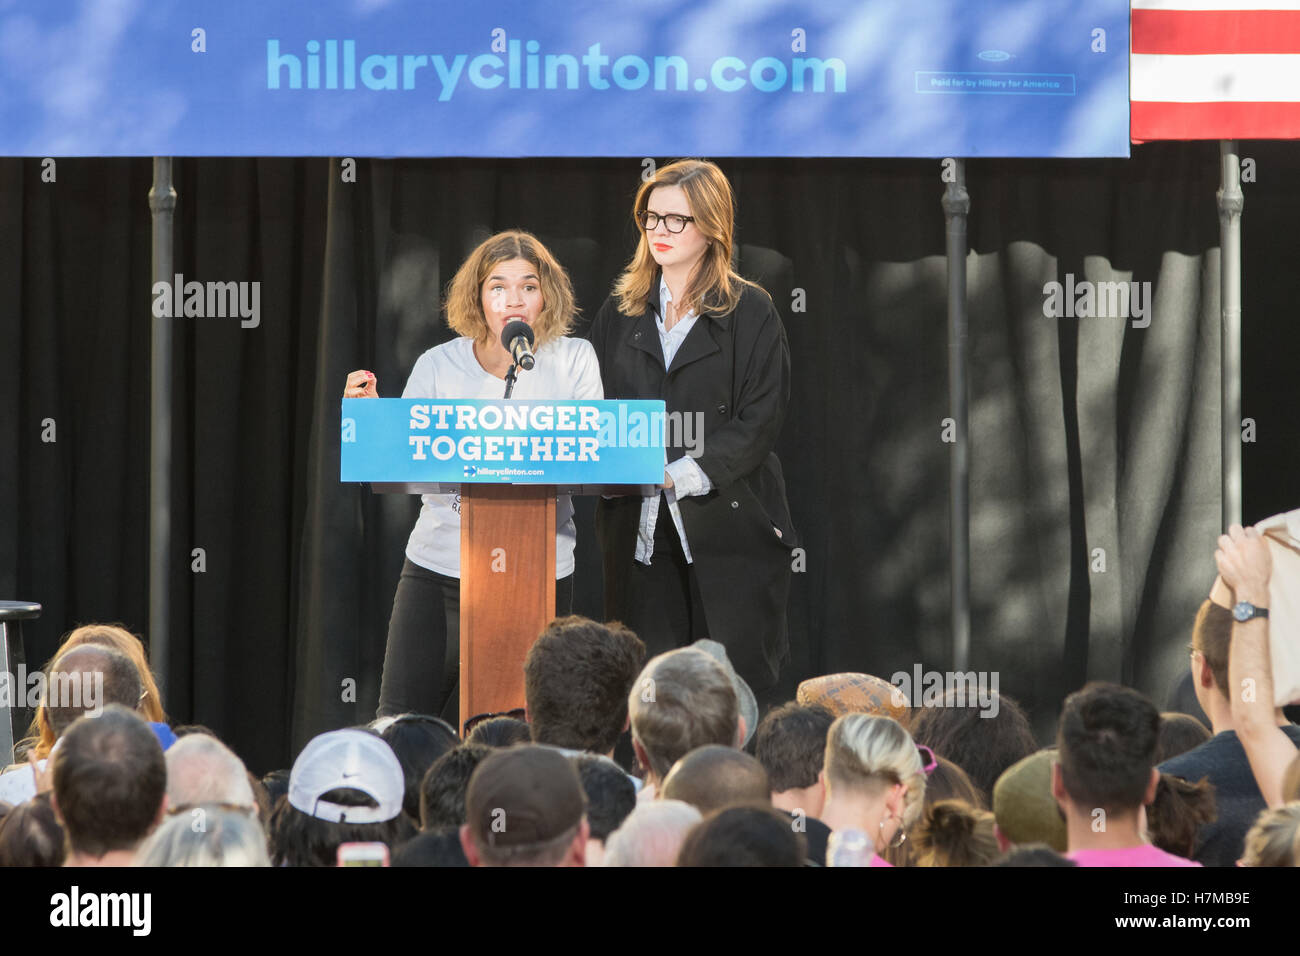
M645 641L647 661L708 636L699 583L694 568L686 563L668 499L662 494L650 563L632 558L628 618L623 623Z

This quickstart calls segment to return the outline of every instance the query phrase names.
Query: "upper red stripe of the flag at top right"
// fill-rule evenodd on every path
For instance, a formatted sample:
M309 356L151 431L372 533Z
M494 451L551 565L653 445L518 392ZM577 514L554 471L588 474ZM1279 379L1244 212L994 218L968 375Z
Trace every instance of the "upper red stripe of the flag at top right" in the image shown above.
M1134 53L1300 53L1300 10L1132 12Z

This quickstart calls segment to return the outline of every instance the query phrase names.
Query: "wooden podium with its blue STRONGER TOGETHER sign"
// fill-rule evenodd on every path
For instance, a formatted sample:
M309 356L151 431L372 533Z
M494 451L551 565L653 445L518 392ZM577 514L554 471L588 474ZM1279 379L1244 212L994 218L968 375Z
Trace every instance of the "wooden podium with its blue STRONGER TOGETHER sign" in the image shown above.
M344 398L341 412L341 481L460 494L458 730L524 706L524 658L555 617L556 497L654 493L664 403Z

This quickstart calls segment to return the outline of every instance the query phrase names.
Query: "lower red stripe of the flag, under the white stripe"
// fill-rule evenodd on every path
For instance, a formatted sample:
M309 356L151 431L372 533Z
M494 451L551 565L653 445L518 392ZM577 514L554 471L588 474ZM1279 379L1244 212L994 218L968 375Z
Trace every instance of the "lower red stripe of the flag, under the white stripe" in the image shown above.
M1128 130L1135 143L1148 139L1300 139L1300 103L1134 101Z

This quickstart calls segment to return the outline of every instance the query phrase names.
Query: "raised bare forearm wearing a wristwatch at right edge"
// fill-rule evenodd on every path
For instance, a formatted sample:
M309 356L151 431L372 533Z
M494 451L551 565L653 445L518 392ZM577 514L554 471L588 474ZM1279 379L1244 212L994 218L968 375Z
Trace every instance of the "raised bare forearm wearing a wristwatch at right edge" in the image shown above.
M1230 696L1232 726L1265 805L1280 806L1282 780L1300 749L1300 728L1274 706L1268 618L1273 555L1257 529L1234 524L1219 536L1214 563L1219 570L1216 589L1232 605L1226 687L1244 688L1251 682L1253 688L1253 693ZM1221 804L1223 800L1219 788Z

